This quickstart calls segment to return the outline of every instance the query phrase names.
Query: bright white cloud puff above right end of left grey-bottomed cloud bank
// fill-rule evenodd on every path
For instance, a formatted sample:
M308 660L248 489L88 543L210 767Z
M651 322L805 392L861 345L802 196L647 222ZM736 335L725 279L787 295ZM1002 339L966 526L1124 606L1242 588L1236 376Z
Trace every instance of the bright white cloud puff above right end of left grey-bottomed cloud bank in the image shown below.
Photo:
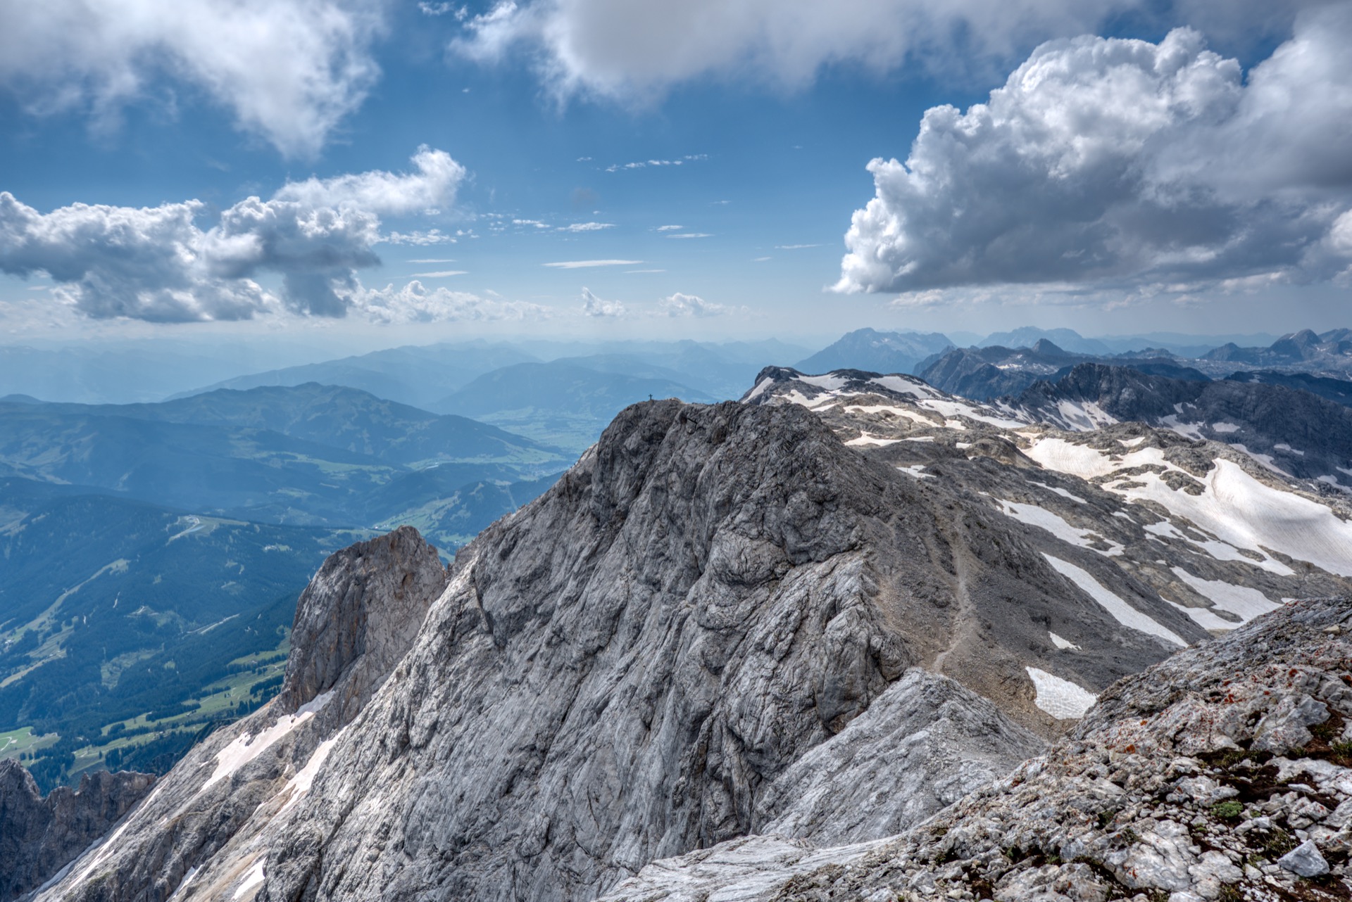
M450 154L423 144L411 162L416 171L403 176L373 170L287 182L274 198L308 207L356 207L389 216L407 216L456 201L456 189L465 178L465 167L452 159Z

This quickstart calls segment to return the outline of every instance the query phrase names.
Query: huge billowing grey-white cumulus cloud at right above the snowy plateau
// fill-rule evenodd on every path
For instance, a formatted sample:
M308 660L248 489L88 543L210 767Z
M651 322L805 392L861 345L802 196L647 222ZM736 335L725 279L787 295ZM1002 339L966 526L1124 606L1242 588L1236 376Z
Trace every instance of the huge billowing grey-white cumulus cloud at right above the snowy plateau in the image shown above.
M836 289L1328 278L1349 144L1352 4L1302 15L1248 78L1188 28L1051 42L868 165Z

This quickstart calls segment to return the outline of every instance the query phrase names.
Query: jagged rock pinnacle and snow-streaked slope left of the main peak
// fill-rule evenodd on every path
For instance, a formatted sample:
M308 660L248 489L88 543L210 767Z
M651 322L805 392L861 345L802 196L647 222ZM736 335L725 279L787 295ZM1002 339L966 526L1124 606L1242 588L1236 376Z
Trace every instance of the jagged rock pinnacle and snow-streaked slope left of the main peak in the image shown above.
M37 898L150 902L234 893L277 843L279 813L310 790L445 586L437 550L411 527L331 555L297 602L283 693L188 752ZM261 880L261 863L257 872Z

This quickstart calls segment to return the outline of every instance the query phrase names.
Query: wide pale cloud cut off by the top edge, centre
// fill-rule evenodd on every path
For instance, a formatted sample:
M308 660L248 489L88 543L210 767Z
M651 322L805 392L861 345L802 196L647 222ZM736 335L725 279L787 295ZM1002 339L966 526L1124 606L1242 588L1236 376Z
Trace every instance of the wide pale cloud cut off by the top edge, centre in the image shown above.
M1053 36L1083 34L1138 0L521 0L466 20L453 47L481 62L533 53L558 96L648 100L717 76L780 88L823 66L883 73L986 69Z

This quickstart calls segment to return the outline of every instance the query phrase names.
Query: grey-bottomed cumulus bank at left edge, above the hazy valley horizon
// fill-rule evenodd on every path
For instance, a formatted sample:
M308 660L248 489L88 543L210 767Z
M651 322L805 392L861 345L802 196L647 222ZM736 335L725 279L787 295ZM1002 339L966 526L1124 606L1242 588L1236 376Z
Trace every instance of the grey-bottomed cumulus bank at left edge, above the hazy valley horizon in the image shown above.
M377 211L410 208L418 185L441 200L453 190L429 184L422 170L299 185L272 200L245 198L208 228L199 226L201 201L72 204L41 213L0 192L0 271L49 274L58 297L93 319L239 320L280 309L343 316L358 289L356 270L380 262ZM380 190L366 190L373 185ZM262 274L281 275L280 297L256 281Z

